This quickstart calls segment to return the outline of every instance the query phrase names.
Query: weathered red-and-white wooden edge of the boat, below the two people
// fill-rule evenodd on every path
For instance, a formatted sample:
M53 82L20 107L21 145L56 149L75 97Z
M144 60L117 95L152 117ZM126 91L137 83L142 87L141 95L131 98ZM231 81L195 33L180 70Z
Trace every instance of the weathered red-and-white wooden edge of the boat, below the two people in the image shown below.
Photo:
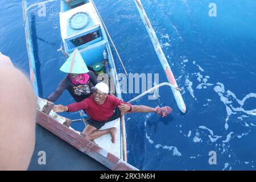
M137 168L131 166L122 159L119 159L117 156L111 154L85 137L82 137L73 130L70 130L68 127L55 121L55 119L44 114L42 111L37 111L36 123L113 171L138 171Z

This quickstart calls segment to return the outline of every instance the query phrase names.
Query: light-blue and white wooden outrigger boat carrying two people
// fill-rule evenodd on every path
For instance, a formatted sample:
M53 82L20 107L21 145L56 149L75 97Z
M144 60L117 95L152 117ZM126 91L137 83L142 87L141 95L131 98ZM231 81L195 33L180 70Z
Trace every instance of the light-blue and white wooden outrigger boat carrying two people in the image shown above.
M40 3L56 2L49 0ZM28 21L28 11L40 3L27 7L27 2L23 1L23 21L26 34L28 60L30 64L30 78L34 86L34 91L38 95L38 84L36 80L35 57L31 40L30 23ZM60 30L64 49L62 52L69 56L75 49L79 49L82 58L88 67L100 61L103 65L109 64L110 77L114 81L114 93L122 99L121 89L118 82L117 71L106 35L106 29L98 14L98 11L90 0L60 0ZM92 35L93 39L86 42L87 35ZM104 52L107 60L104 60ZM63 60L64 62L65 60ZM106 80L104 80L106 81ZM109 81L109 80L108 80ZM37 123L61 139L65 140L81 152L91 156L98 162L104 164L112 170L138 170L127 163L126 155L126 130L125 118L122 116L112 122L106 123L101 128L107 129L116 127L116 141L111 142L110 135L103 135L94 139L94 142L87 140L80 135L79 131L66 126L68 119L61 117L52 110L53 104L38 97L38 117Z

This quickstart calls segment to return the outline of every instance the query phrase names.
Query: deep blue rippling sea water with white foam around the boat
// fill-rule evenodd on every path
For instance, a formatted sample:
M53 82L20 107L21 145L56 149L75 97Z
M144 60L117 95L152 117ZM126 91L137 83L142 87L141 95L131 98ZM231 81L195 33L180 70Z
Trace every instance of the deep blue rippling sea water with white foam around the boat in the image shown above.
M29 1L28 4L39 1ZM134 1L97 1L127 72L159 73L166 82ZM208 7L216 3L217 16ZM170 88L157 100L137 105L170 105L168 118L156 114L126 116L128 162L142 170L255 170L256 143L256 4L253 0L142 0L187 105L181 114ZM59 2L47 16L31 16L40 96L47 97L65 76ZM28 75L22 5L3 0L0 51ZM117 62L118 72L123 72ZM51 75L51 77L49 76ZM128 101L138 94L123 94ZM57 104L73 102L67 92ZM69 115L70 117L70 115ZM71 117L76 117L76 114ZM81 126L76 126L81 130ZM215 151L217 164L209 164Z

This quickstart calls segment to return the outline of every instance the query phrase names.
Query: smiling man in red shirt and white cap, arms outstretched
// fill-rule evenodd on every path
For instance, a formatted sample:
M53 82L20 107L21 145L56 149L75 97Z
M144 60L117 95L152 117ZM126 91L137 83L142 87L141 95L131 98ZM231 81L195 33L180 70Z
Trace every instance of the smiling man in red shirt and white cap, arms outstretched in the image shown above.
M55 105L53 111L55 112L74 112L84 110L91 118L88 125L86 125L82 133L89 140L96 139L105 134L110 134L112 142L115 142L116 128L112 127L106 130L99 130L106 122L113 121L123 114L127 113L158 113L162 117L166 117L172 112L171 107L148 107L130 105L129 103L120 101L117 97L109 95L109 87L104 82L96 84L93 89L93 95L81 102L63 106Z

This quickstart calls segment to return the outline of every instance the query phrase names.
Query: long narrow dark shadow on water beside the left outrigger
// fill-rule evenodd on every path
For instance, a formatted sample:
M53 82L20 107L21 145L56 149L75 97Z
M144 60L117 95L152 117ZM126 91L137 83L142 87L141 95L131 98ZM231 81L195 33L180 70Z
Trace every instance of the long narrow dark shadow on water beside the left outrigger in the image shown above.
M38 37L36 36L36 26L35 21L36 20L36 14L31 14L31 37L32 37L32 44L34 49L34 57L35 57L35 67L36 67L36 78L38 81L38 94L39 97L43 96L43 86L42 86L42 79L41 79L41 63L39 60L38 55Z

